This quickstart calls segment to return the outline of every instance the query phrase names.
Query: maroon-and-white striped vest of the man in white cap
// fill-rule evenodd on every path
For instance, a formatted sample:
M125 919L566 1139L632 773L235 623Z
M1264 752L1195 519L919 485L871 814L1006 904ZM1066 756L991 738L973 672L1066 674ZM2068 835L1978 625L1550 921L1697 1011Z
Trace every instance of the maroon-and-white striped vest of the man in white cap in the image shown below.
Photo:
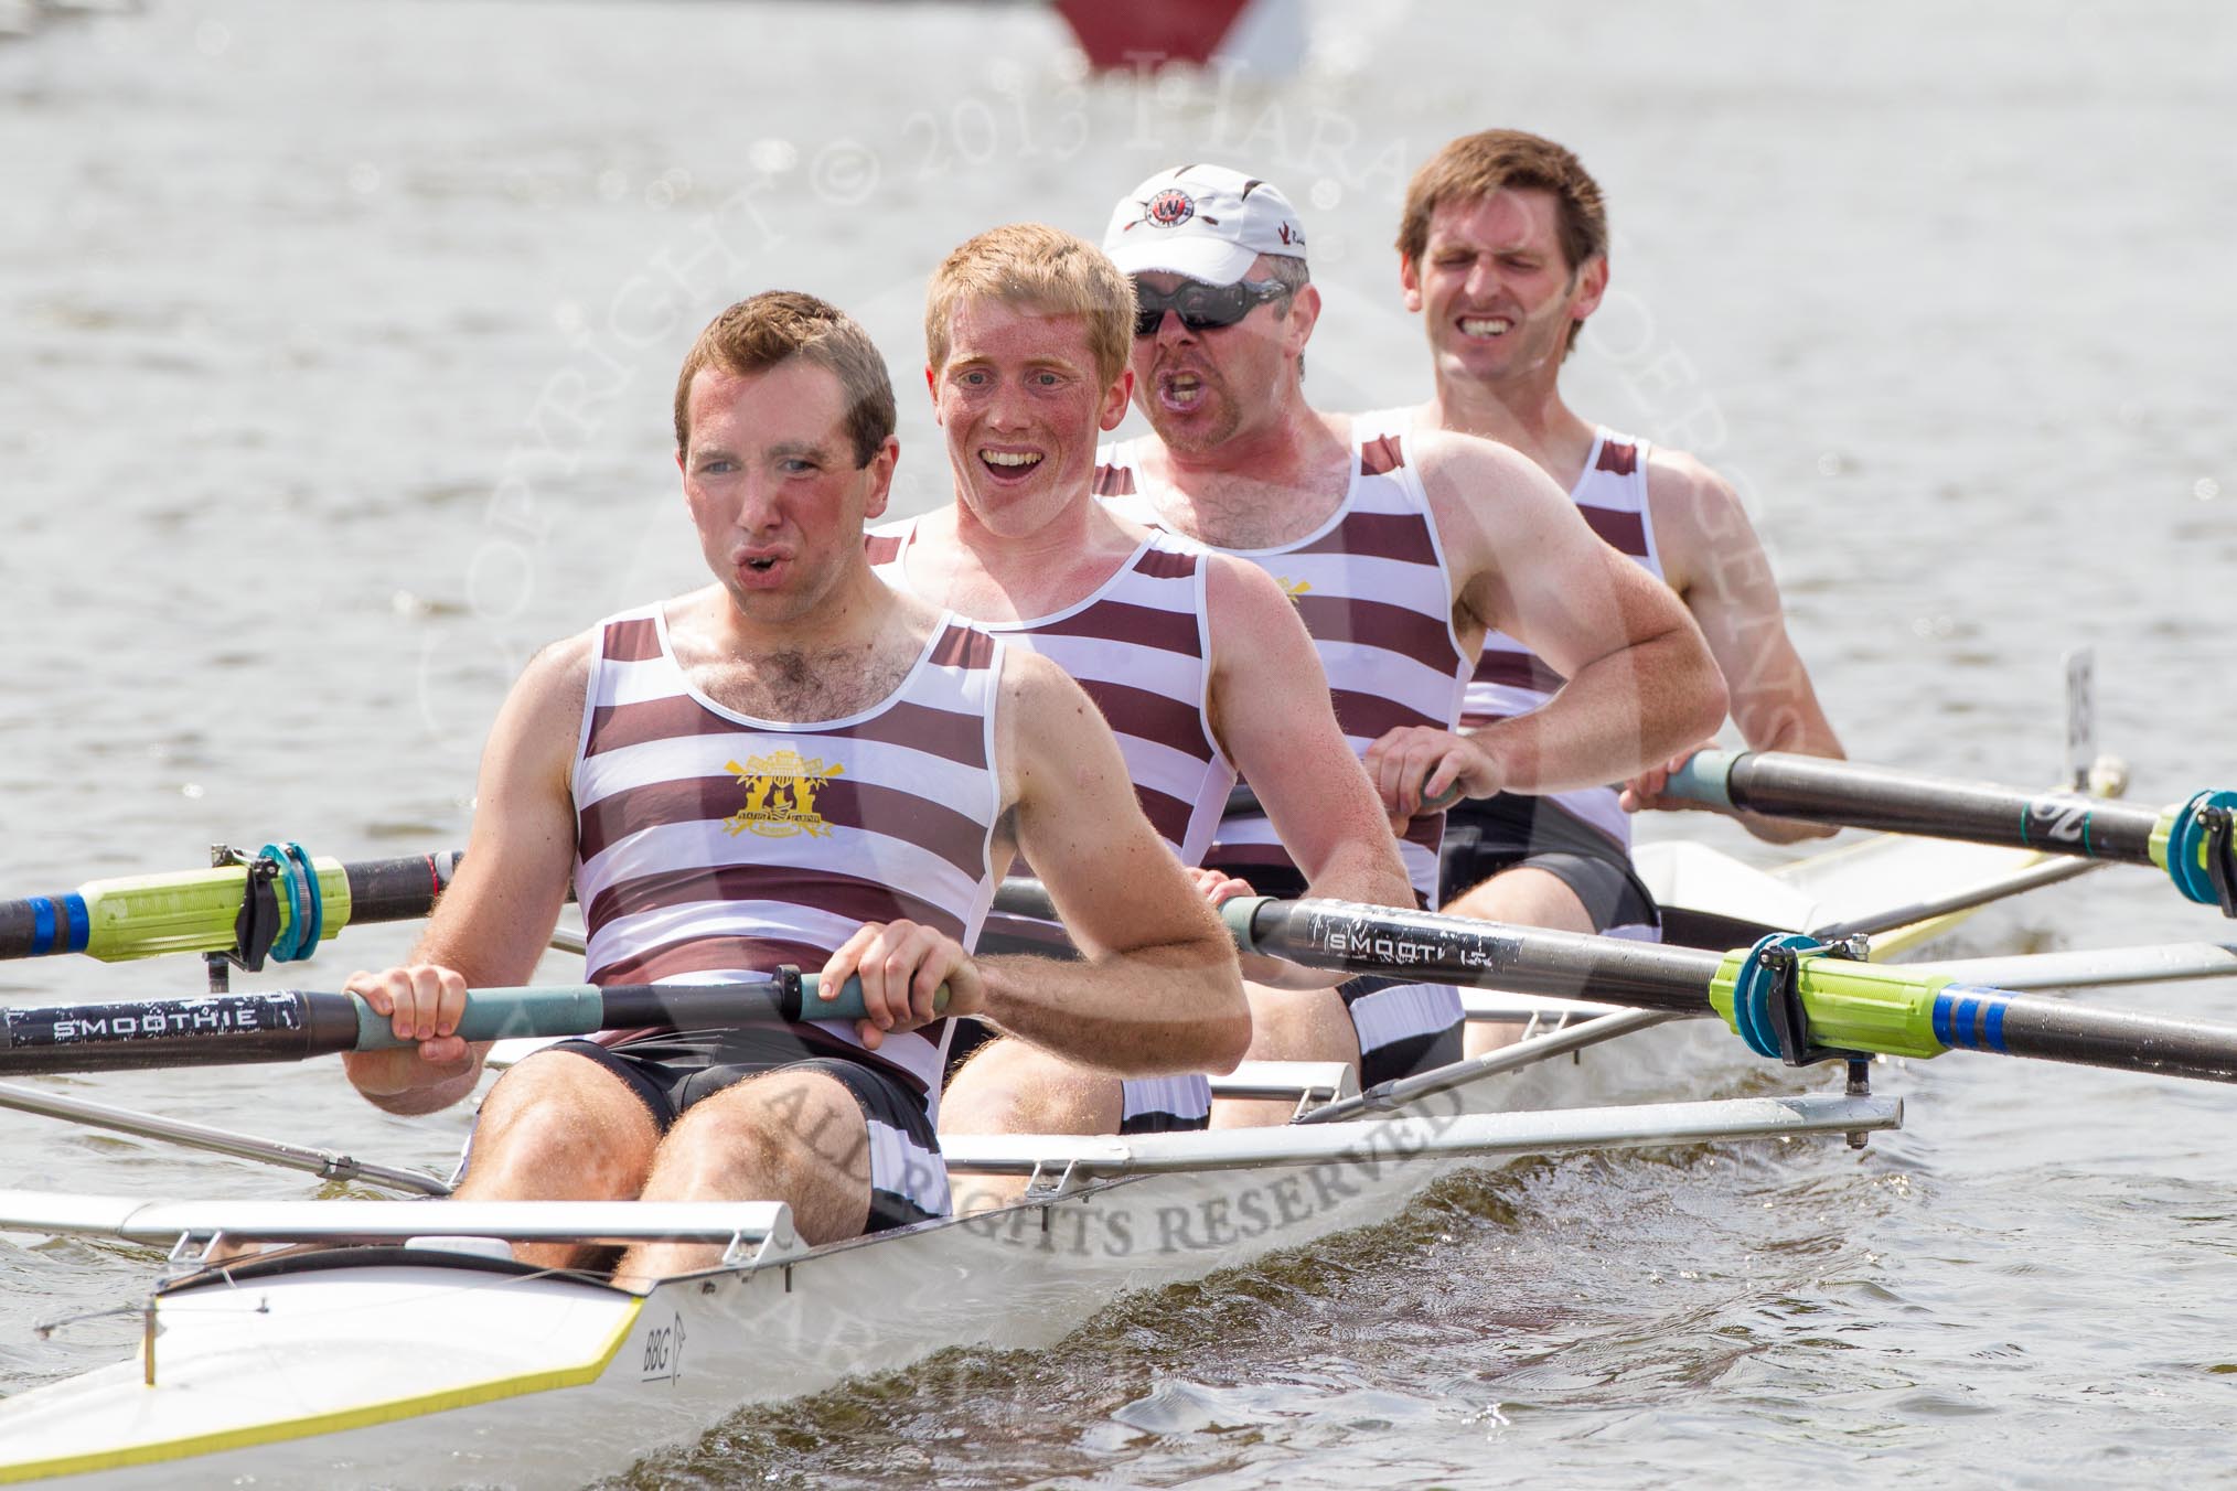
M1367 420L1351 427L1351 487L1327 523L1295 543L1221 550L1259 566L1297 606L1329 673L1335 722L1360 756L1400 724L1450 731L1461 718L1467 655L1452 635L1452 579L1436 521L1405 443ZM1163 525L1132 440L1096 456L1096 496L1136 523ZM1398 856L1423 905L1436 905L1445 816L1414 818ZM1289 865L1273 823L1228 818L1204 858L1215 870Z

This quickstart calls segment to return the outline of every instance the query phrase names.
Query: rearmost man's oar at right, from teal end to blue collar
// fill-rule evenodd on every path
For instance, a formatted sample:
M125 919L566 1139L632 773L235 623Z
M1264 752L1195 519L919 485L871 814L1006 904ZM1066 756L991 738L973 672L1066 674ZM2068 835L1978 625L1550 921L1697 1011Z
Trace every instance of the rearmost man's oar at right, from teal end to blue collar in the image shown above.
M2201 905L2237 917L2237 791L2168 809L2071 791L1978 787L1781 751L1696 751L1664 796L1807 823L2009 845L2165 870Z

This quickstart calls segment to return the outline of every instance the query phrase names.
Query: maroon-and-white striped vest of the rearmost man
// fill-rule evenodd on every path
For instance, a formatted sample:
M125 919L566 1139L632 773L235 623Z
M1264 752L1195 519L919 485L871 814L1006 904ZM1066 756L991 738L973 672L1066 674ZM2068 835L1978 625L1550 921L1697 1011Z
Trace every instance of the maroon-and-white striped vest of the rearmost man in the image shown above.
M1655 525L1646 507L1646 440L1615 434L1606 425L1593 431L1593 454L1584 476L1568 492L1577 512L1608 548L1631 557L1649 574L1662 579L1662 554L1655 550ZM1526 715L1561 686L1561 675L1537 653L1501 630L1485 633L1483 657L1467 680L1463 729L1481 729L1492 720ZM1631 814L1615 805L1617 787L1579 787L1548 794L1570 816L1599 829L1620 847L1631 847Z

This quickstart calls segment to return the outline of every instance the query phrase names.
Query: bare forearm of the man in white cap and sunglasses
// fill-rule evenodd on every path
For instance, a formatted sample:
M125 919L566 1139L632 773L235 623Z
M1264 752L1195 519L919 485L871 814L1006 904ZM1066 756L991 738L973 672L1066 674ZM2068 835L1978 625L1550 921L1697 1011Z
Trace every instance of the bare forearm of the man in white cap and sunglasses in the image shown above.
M1503 767L1506 791L1546 796L1637 776L1716 735L1725 680L1691 633L1667 633L1586 664L1541 709L1470 735Z

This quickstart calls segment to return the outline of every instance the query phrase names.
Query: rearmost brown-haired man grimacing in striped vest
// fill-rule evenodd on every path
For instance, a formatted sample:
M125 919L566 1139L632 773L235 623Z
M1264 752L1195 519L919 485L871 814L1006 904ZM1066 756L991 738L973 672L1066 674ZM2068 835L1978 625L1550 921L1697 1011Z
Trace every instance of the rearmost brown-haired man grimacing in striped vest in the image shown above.
M1593 532L1687 604L1749 749L1841 756L1731 485L1693 456L1593 425L1561 400L1561 364L1608 286L1606 201L1577 156L1521 130L1485 130L1438 150L1407 188L1398 277L1407 308L1423 313L1436 393L1378 418L1403 431L1485 436L1530 456L1568 487ZM1559 688L1559 668L1494 630L1463 724L1528 715ZM1508 791L1454 809L1450 832L1467 845L1445 861L1447 910L1653 937L1653 901L1631 872L1629 814L1700 807L1660 796L1684 756L1691 749L1626 789ZM1774 843L1830 832L1754 814L1743 823Z

